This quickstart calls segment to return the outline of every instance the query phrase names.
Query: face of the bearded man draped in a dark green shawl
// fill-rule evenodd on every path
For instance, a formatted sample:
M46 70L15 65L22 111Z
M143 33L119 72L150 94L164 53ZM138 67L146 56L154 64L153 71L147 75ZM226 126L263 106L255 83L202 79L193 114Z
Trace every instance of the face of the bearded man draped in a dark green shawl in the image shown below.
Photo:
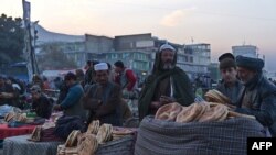
M161 52L161 62L162 62L163 69L172 69L174 67L172 64L173 58L174 58L174 52L170 49L163 49Z

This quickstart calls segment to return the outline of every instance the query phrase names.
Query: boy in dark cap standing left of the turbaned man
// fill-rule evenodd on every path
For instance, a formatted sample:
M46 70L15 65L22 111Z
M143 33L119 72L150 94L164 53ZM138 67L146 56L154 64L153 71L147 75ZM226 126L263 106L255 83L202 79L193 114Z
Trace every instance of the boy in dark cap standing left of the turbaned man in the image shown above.
M222 81L216 89L226 96L232 104L236 104L237 96L243 85L237 79L235 57L231 53L224 53L219 57Z

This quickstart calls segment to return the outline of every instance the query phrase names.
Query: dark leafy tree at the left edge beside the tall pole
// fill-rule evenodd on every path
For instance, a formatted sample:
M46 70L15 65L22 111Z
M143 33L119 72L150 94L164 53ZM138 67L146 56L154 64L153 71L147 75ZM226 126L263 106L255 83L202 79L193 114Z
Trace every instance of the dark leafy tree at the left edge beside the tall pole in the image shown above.
M24 29L22 19L0 18L0 64L10 64L23 60Z

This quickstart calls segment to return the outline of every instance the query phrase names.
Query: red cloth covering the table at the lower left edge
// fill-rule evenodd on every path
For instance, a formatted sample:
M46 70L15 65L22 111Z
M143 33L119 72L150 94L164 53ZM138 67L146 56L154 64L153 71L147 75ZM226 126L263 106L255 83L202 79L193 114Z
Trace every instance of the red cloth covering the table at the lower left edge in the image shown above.
M35 125L24 125L20 128L8 128L8 124L0 124L0 140L9 136L31 134Z

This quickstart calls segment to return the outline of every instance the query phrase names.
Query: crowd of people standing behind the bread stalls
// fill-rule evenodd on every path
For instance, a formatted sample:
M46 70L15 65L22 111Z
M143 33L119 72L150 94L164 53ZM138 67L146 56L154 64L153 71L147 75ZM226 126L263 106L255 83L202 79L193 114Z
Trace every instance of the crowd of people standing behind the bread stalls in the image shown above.
M264 77L264 62L259 58L234 57L225 53L219 57L222 81L216 89L225 95L235 111L251 114L276 136L276 87ZM121 60L110 65L107 62L88 60L85 73L76 69L67 73L64 80L56 79L60 96L53 100L44 95L46 80L33 76L30 88L32 109L42 118L52 111L63 111L65 115L79 115L87 123L100 120L120 126L131 118L126 98L138 100L139 120L156 114L163 104L178 102L190 106L195 93L188 75L176 66L177 51L169 44L160 46L156 53L153 68L137 95L137 77ZM0 106L8 103L20 107L18 99L23 85L13 79L0 77Z

